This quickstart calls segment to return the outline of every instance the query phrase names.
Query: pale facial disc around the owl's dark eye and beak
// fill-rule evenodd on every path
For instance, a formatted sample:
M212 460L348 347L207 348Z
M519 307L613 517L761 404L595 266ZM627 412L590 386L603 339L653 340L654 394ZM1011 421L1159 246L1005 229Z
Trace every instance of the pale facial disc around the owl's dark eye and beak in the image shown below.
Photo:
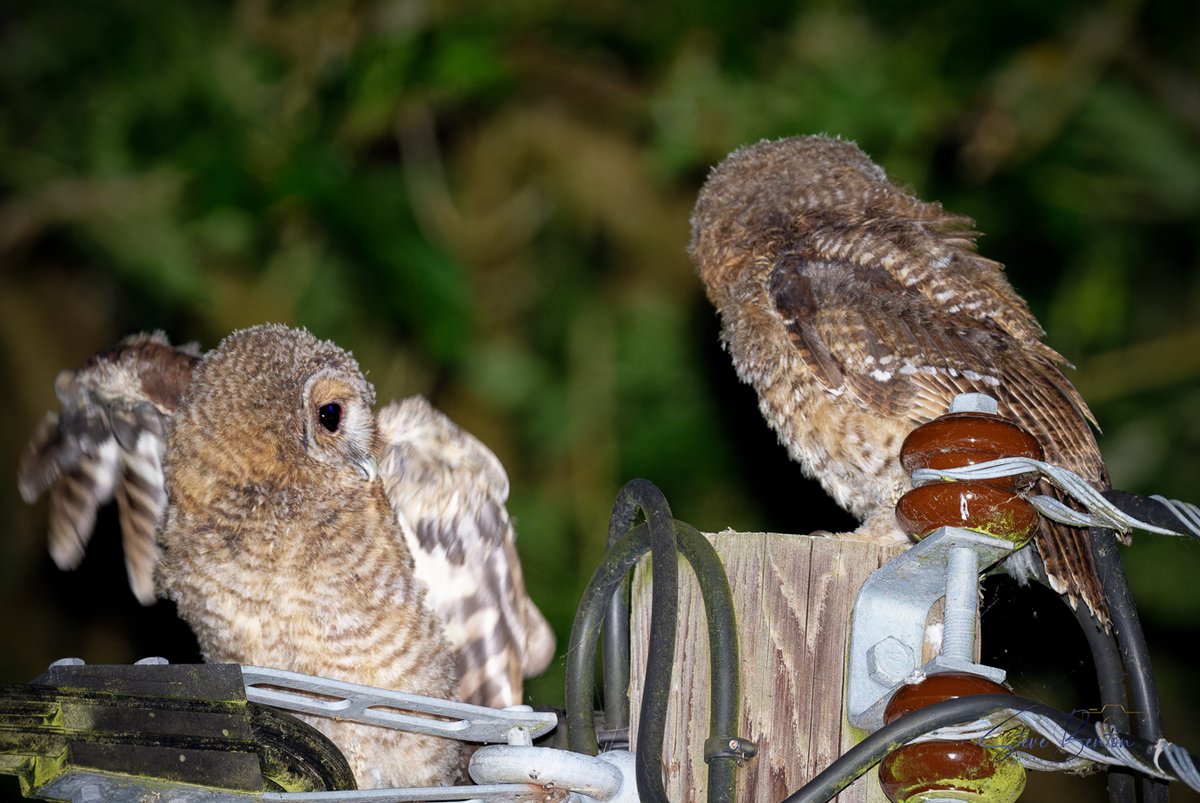
M323 463L353 468L367 483L378 477L373 454L374 417L361 377L334 371L314 374L305 385L305 449Z

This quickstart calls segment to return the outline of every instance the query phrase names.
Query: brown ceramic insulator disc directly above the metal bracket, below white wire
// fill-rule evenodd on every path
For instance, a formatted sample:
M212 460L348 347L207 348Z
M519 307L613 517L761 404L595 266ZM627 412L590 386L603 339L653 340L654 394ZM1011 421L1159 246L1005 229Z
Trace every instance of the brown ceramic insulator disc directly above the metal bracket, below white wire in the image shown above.
M962 527L1025 544L1039 519L1032 504L995 485L931 483L900 497L896 521L918 541L938 527Z

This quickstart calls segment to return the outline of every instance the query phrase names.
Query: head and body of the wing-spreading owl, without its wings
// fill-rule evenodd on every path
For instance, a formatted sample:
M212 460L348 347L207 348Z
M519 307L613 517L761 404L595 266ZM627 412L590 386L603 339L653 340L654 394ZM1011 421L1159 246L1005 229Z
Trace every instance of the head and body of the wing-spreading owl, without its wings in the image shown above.
M449 645L376 478L373 405L349 354L283 326L235 332L197 366L167 430L158 580L205 660L451 695ZM311 721L360 786L457 772L456 742Z

